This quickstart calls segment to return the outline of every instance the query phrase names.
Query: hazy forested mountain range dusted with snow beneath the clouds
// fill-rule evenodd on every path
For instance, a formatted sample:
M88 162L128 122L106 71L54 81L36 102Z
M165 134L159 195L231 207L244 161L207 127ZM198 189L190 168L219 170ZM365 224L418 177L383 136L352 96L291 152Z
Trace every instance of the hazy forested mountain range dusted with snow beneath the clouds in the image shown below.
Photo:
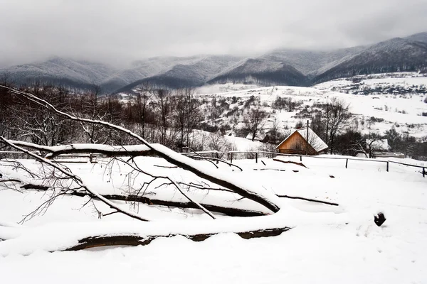
M196 55L137 60L118 69L99 62L50 58L0 68L15 84L45 82L68 87L100 85L102 92L129 92L149 82L158 87L197 87L223 82L309 86L339 77L383 72L427 72L427 33L374 45L329 51L278 49L256 57Z

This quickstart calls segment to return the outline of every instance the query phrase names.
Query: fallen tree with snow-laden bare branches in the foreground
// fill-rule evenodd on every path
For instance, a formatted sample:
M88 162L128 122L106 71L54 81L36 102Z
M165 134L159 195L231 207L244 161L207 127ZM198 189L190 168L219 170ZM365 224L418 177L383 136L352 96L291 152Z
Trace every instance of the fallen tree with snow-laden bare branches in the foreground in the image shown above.
M95 207L96 212L99 217L107 216L109 214L125 214L127 217L131 217L133 219L137 219L139 221L144 221L144 224L154 224L154 230L149 230L152 227L147 225L142 225L143 228L148 228L148 231L137 231L133 232L130 230L125 231L114 231L115 227L111 229L105 230L102 229L100 231L92 230L90 227L82 226L81 230L85 231L84 234L78 234L76 236L69 236L69 243L63 244L61 246L57 246L53 249L47 249L48 251L56 251L56 250L76 250L76 249L87 249L94 246L112 246L112 245L140 245L140 244L149 244L153 239L157 239L161 236L185 236L188 239L192 239L194 241L202 241L209 236L214 234L219 234L223 232L227 233L236 233L244 239L250 239L252 237L260 237L260 236L276 236L281 234L283 231L287 231L290 229L290 226L285 226L282 222L276 222L273 226L271 223L263 223L263 218L269 218L271 216L262 216L262 217L254 217L258 215L270 215L272 213L276 213L280 210L280 197L271 192L270 190L266 190L265 188L258 188L256 185L252 185L249 182L244 180L244 177L237 176L241 171L241 168L238 168L240 172L233 172L232 170L224 171L218 166L210 166L209 163L206 166L204 161L193 160L189 157L181 155L172 151L171 149L162 146L160 144L152 144L148 143L144 138L130 131L129 129L125 129L122 126L117 126L115 124L110 124L105 121L94 120L94 119L86 119L84 117L78 117L73 114L68 114L66 112L60 111L53 106L53 104L47 102L46 100L40 99L33 94L28 92L22 92L17 89L13 89L11 87L0 86L3 87L12 94L22 97L23 99L27 99L34 104L37 104L44 109L48 109L53 114L62 117L63 119L70 119L73 121L79 121L85 124L95 124L103 127L107 127L112 131L118 131L122 134L135 138L139 145L131 145L131 146L108 146L108 145L100 145L100 144L78 144L73 143L65 146L41 146L35 143L28 143L26 141L16 141L9 140L4 137L0 137L0 143L3 143L6 146L11 148L15 148L18 151L26 153L33 159L37 160L41 163L43 170L45 171L44 175L41 176L41 179L46 181L46 184L35 185L33 189L35 190L46 190L51 192L48 200L43 202L34 212L28 214L23 221L27 218L31 218L43 210L46 210L52 202L56 200L56 198L63 195L75 195L80 197L90 197L89 201L85 204L91 204ZM37 153L33 153L31 150L37 150L42 153L46 153L46 155L38 155ZM93 186L88 185L83 178L73 173L69 168L65 167L65 165L61 163L53 163L52 158L56 158L61 154L73 154L73 153L100 153L102 155L107 155L108 157L112 157L113 162L121 163L121 165L125 165L127 167L127 175L131 173L135 173L135 175L143 175L146 180L144 180L143 184L139 187L132 187L129 195L100 195ZM174 178L171 178L168 174L159 174L155 173L152 169L144 168L144 165L139 165L135 162L135 157L140 155L157 155L160 158L164 158L172 167L179 168L182 170L189 171L196 175L196 177L200 178L199 183L194 182L177 182ZM226 163L227 165L232 167L231 163ZM302 165L303 166L303 165ZM23 169L26 172L30 173L31 170ZM14 179L11 179L14 180ZM172 202L166 200L152 199L145 195L147 189L154 185L154 182L162 181L162 185L168 185L173 187L176 192L180 192L182 196L188 200L188 202ZM210 184L209 184L210 183ZM130 187L130 186L129 186ZM30 184L27 182L26 185L23 185L23 189L31 189ZM156 187L157 188L157 187ZM255 202L255 204L261 205L263 210L255 211L251 209L241 209L236 207L226 207L221 206L221 204L206 204L202 203L189 194L189 189L194 190L218 190L225 191L227 194L238 195L246 200L251 200L251 202ZM284 196L287 198L293 198L289 196ZM298 197L295 197L298 198ZM304 199L304 198L300 198ZM113 212L103 213L100 212L96 208L95 202L93 200L100 201L106 204L108 207L113 209ZM191 230L187 229L188 225L181 224L182 227L175 229L168 229L164 231L162 234L159 234L159 230L162 231L163 226L174 226L172 223L164 222L159 226L159 222L148 222L152 219L144 217L137 212L132 211L131 209L125 209L115 200L122 201L130 201L130 202L140 202L143 204L153 204L159 206L167 206L167 207L178 207L178 208L195 208L200 209L205 214L209 215L211 219L216 219L215 214L212 212L219 212L221 214L228 214L230 216L245 216L245 217L253 217L260 218L258 223L252 224L255 219L247 219L244 221L246 226L242 226L242 220L236 220L238 222L227 222L223 219L221 220L213 220L209 223L209 228L206 227L199 228L199 226L194 226ZM307 199L305 199L307 200ZM238 199L236 198L236 201ZM309 200L312 201L312 200ZM326 202L323 202L327 204ZM238 218L238 217L237 217ZM142 223L141 223L142 224ZM223 226L223 224L226 224ZM132 226L135 226L132 224ZM20 231L21 228L8 228L10 230L15 230L13 234L9 236L1 236L0 239L4 241L1 242L1 246L7 247L9 240L15 239L10 236L19 236L16 231ZM61 229L55 228L58 231ZM65 230L65 229L64 229ZM43 230L41 230L43 231ZM40 231L36 231L39 234L42 234ZM26 231L23 230L23 236L26 236L31 239L34 231ZM59 233L58 233L59 234ZM21 240L25 240L26 237L23 237ZM56 239L61 240L61 237L57 236ZM65 240L64 240L65 241ZM6 243L6 244L5 244ZM13 243L14 244L14 243Z

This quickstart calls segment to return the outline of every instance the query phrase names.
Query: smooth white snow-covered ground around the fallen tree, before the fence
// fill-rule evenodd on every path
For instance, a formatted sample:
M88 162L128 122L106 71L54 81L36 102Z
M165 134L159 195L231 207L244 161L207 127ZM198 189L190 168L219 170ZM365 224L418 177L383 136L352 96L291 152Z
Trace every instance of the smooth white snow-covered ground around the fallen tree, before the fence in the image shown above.
M299 158L284 158L300 162ZM224 217L212 220L196 209L169 209L147 204L117 202L154 222L139 222L120 214L98 219L85 197L64 195L45 214L17 225L46 194L6 190L0 182L1 283L427 283L427 178L420 169L403 165L350 160L303 158L307 167L273 159L236 160L243 171L219 164L221 173L235 175L243 184L278 195L336 202L331 206L280 198L280 211L263 217ZM37 168L32 160L22 160ZM106 161L104 161L106 162ZM413 162L413 161L412 161ZM174 180L199 182L195 175L168 165L160 158L138 158L145 169ZM212 166L206 162L198 162ZM420 165L425 165L418 162ZM124 165L68 164L84 182L102 194L125 194ZM4 166L9 178L31 180ZM27 177L27 178L26 178ZM142 177L133 180L143 182ZM17 187L19 189L19 187ZM171 187L147 192L164 200L183 200ZM199 202L224 202L258 209L259 204L228 192L190 191ZM102 212L103 204L95 201ZM374 224L384 212L386 222ZM280 236L241 239L226 233L233 227L290 226ZM75 236L94 232L152 232L215 229L224 234L194 242L183 236L164 237L147 246L110 247L53 252L73 244ZM12 239L10 239L12 238Z

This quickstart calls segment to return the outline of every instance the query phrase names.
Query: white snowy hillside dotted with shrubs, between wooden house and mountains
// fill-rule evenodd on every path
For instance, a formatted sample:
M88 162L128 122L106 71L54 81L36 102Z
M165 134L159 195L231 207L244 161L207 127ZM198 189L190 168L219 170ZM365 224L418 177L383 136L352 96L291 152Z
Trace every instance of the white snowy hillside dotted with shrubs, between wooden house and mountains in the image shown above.
M219 92L209 93L211 90ZM219 85L213 85L197 89L197 92L201 98L216 98L216 102L224 99L229 105L218 118L207 119L209 123L228 125L237 130L244 127L243 111L248 108L246 102L250 99L257 99L260 108L268 113L264 131L268 131L277 119L280 131L285 132L297 123L311 119L310 112L315 111L316 105L337 97L350 105L354 114L349 124L352 129L362 133L384 133L395 127L405 135L427 136L427 76L413 72L357 76L313 87L243 89L242 85L225 85L221 89ZM273 103L278 97L291 99L295 109L274 108ZM206 118L209 118L209 112L206 112Z

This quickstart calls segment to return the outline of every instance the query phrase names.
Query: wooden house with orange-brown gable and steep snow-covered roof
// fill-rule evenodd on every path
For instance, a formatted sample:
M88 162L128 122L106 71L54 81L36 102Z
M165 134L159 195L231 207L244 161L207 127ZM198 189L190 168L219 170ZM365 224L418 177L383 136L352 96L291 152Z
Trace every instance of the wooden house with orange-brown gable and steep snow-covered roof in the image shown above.
M279 153L307 155L318 155L326 149L327 144L310 127L308 135L307 127L296 129L276 147Z

